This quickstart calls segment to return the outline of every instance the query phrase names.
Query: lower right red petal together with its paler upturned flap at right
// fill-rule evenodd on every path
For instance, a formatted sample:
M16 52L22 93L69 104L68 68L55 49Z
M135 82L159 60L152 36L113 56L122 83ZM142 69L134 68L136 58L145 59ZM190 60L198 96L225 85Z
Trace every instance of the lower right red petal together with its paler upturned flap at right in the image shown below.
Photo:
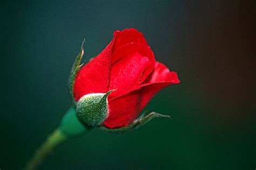
M109 101L109 116L104 125L109 128L127 126L134 121L152 97L166 86L180 82L176 72L166 71L164 64L156 64L151 74L151 82L134 88L124 96L112 98Z

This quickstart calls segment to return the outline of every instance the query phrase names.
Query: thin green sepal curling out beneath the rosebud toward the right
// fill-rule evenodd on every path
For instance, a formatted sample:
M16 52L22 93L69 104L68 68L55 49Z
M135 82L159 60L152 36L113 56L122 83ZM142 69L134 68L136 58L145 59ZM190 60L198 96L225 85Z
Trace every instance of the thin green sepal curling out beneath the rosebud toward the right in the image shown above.
M105 132L109 133L124 133L130 130L134 130L136 128L139 128L142 125L145 125L153 118L171 118L170 115L164 115L156 112L151 112L147 115L141 115L137 120L135 120L133 123L131 123L128 126L120 127L120 128L107 128L105 126L100 126L100 129L102 129Z

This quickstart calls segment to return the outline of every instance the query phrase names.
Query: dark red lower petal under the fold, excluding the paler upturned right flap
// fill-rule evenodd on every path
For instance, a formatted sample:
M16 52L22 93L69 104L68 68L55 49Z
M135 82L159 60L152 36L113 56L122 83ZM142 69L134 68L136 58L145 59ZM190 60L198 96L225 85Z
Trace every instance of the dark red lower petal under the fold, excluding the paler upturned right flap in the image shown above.
M140 89L110 100L109 116L104 121L104 126L117 128L129 125L138 118L140 112L158 91L171 84L173 83L144 84Z

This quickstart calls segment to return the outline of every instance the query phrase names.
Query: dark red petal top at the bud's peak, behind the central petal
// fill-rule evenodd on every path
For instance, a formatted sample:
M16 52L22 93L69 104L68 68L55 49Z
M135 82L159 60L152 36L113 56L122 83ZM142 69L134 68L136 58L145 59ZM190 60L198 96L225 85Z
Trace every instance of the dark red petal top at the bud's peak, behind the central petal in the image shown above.
M113 52L119 49L119 47L122 47L123 45L129 44L129 43L139 43L147 45L147 41L144 38L143 34L139 32L138 30L131 28L131 29L125 29L123 31L115 31L116 32L116 41L113 45Z

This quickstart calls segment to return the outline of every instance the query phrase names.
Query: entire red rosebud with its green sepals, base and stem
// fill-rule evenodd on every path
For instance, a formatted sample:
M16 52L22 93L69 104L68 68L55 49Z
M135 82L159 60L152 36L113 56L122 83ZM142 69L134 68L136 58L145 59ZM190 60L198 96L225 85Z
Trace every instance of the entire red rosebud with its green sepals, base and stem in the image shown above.
M115 31L113 35L110 44L84 67L80 65L83 41L69 77L75 107L65 113L25 169L35 169L52 148L89 133L96 126L119 133L138 128L154 117L169 117L155 112L139 114L154 94L180 82L177 73L156 62L138 30Z

